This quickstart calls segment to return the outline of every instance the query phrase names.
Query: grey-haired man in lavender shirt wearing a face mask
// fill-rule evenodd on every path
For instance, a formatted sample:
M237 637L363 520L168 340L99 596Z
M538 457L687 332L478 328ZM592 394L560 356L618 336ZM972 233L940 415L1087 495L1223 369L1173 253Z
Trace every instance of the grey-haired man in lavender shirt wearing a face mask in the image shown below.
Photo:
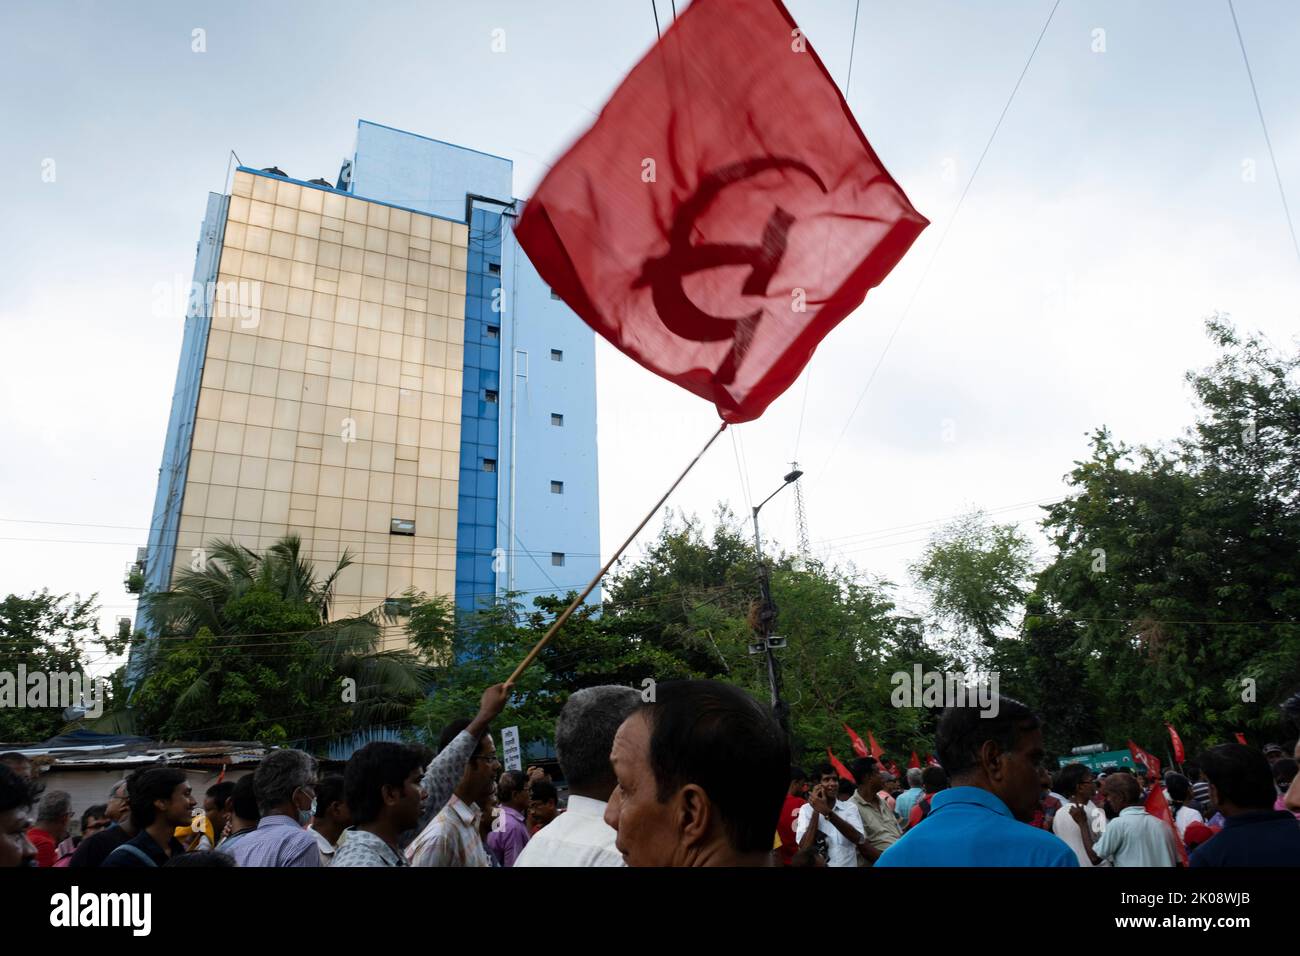
M273 750L252 778L261 819L230 848L239 866L320 866L316 838L316 761L302 750Z

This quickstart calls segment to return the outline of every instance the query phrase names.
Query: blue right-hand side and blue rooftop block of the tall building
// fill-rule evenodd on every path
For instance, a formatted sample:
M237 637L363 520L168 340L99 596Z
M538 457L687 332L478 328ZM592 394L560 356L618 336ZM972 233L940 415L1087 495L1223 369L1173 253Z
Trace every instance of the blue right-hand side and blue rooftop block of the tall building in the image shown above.
M458 606L580 591L601 567L595 337L515 242L512 164L363 120L350 189L469 225Z

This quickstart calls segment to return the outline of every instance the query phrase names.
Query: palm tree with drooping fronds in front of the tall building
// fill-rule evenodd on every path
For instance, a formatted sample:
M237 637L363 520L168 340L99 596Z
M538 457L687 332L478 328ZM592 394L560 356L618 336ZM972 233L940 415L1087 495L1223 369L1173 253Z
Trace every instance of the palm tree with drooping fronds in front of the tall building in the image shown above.
M411 650L381 649L384 626L394 623L385 606L330 619L351 553L324 579L298 535L263 554L222 540L209 542L208 553L211 561L179 571L170 591L140 598L157 635L140 648L139 692L152 718L146 723L156 724L144 730L195 739L229 739L226 728L321 737L322 730L402 719L424 697L429 663ZM233 667L247 676L233 676ZM272 704L266 697L274 698L270 714L261 713ZM231 714L239 719L222 724Z

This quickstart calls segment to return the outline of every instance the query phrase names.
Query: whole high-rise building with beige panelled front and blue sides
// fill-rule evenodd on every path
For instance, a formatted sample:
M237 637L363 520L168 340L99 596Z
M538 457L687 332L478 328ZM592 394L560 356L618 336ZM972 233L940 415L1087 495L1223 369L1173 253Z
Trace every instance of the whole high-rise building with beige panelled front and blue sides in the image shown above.
M365 121L333 186L239 166L209 194L147 589L289 532L322 570L356 555L335 615L594 575L594 338L520 211L510 160Z

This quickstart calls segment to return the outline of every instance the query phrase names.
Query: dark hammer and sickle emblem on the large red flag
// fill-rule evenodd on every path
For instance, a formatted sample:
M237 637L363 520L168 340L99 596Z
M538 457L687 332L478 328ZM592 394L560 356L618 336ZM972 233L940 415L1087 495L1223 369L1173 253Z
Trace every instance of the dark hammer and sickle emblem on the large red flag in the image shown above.
M650 297L664 326L681 338L693 342L722 342L736 338L732 354L719 369L719 378L731 381L736 364L753 339L754 329L763 310L738 317L715 316L698 308L681 286L684 277L714 269L720 265L749 265L749 278L741 286L742 295L766 295L767 284L772 281L776 269L785 255L790 224L794 216L777 206L763 228L763 235L755 246L737 243L703 243L693 246L690 233L719 193L728 186L753 178L768 169L793 169L807 176L823 193L827 191L820 177L805 163L780 156L741 160L716 169L701 179L696 193L677 209L668 233L668 251L662 256L647 259L641 274L632 284L633 289L650 286Z

